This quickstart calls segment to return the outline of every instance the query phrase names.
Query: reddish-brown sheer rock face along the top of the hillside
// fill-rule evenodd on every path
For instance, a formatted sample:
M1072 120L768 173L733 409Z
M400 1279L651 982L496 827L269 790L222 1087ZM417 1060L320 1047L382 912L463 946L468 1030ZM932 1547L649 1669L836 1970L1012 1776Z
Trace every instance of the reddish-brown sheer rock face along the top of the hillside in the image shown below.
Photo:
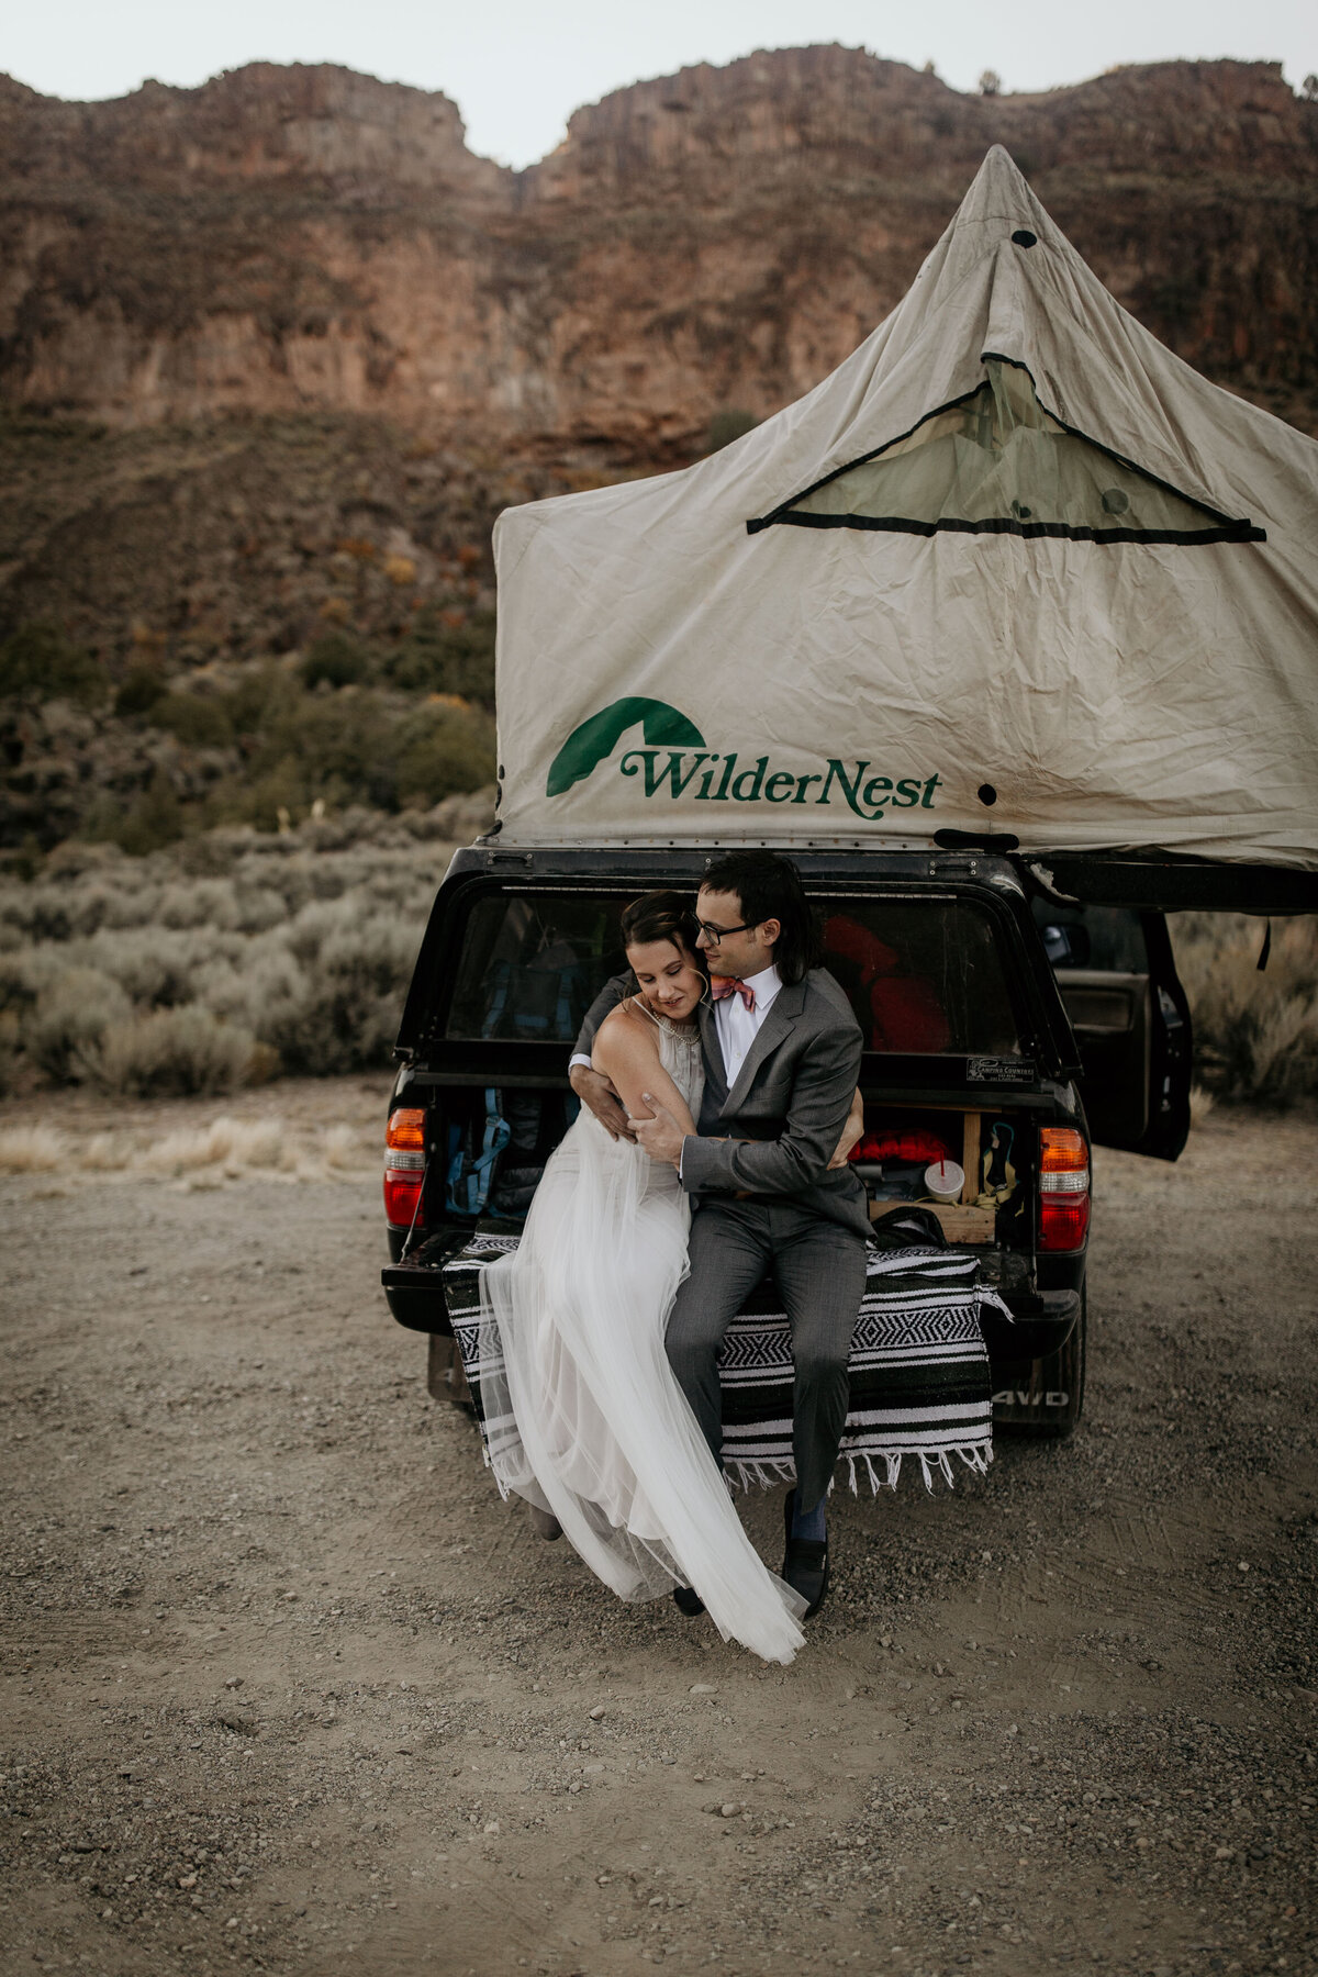
M1318 425L1318 103L1278 67L962 97L844 47L636 83L522 174L447 97L346 69L97 105L4 81L0 401L678 461L873 328L992 142L1174 350Z

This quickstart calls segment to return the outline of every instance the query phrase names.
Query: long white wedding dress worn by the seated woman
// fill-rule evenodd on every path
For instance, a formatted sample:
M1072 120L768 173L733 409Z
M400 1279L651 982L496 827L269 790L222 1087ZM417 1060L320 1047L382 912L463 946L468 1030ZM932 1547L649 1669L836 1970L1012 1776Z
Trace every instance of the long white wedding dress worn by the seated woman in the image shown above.
M654 1022L660 1062L696 1117L700 1036ZM480 1277L504 1368L480 1382L490 1465L504 1495L557 1516L622 1599L692 1586L723 1639L790 1661L804 1599L741 1528L664 1352L690 1220L674 1168L583 1109L545 1166L522 1244Z

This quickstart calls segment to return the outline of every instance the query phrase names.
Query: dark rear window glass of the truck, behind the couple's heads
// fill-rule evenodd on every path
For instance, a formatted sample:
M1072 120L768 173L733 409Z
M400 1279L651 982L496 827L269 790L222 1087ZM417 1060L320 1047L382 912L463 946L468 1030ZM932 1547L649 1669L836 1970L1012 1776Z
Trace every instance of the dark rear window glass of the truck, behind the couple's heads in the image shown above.
M571 1044L611 975L626 967L618 917L630 896L496 894L466 921L451 1038ZM986 913L954 900L816 900L824 965L846 990L867 1050L1016 1056L1020 1038Z

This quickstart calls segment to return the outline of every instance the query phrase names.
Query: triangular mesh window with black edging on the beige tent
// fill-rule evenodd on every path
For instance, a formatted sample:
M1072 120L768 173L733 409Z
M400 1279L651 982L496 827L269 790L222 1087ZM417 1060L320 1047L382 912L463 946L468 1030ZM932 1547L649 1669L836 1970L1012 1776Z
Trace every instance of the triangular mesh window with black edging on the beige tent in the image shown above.
M840 469L747 528L867 528L1071 542L1263 542L1047 411L1030 372L986 358L986 382L905 439Z

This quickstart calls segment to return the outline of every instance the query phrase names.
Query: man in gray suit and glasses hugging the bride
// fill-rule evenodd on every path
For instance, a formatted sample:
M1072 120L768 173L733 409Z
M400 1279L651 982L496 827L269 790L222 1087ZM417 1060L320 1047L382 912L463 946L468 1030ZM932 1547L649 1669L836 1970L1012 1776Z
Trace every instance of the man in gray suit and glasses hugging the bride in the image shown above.
M848 1352L865 1289L865 1192L830 1168L860 1074L862 1032L832 975L796 866L773 852L715 858L696 902L711 1000L700 1030L705 1091L698 1135L654 1103L626 1119L609 1079L589 1066L609 985L577 1038L571 1083L611 1133L672 1160L692 1196L690 1275L668 1321L668 1358L713 1459L721 1459L717 1356L731 1319L767 1271L792 1329L796 1489L784 1504L783 1578L806 1599L828 1591L824 1497L848 1410ZM674 1599L701 1611L690 1588Z

